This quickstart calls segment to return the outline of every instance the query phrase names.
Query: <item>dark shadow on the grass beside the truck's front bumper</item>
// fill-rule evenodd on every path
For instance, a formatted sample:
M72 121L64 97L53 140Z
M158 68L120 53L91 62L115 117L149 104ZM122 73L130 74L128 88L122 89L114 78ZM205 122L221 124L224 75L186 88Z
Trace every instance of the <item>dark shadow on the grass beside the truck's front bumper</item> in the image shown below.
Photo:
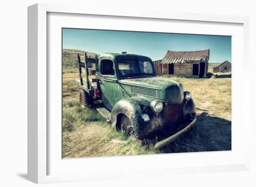
M231 121L202 112L188 133L161 150L164 153L231 150Z

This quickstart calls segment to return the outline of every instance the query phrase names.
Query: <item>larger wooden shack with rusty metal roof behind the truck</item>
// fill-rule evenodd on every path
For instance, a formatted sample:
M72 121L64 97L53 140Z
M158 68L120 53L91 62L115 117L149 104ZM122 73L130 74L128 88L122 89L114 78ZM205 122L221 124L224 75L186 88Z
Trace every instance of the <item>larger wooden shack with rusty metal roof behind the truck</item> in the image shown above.
M208 72L210 50L168 51L162 60L154 61L157 75L205 77Z

